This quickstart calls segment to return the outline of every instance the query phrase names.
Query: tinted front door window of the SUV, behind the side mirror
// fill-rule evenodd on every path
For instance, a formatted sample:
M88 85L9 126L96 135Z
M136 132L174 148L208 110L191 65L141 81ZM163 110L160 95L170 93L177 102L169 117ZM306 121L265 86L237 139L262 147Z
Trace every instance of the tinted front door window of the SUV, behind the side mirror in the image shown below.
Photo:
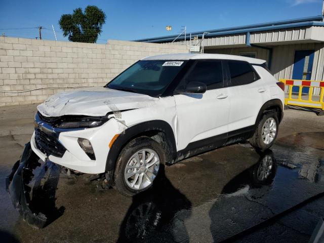
M222 63L219 60L197 61L187 76L186 83L200 82L207 85L208 90L223 87Z

